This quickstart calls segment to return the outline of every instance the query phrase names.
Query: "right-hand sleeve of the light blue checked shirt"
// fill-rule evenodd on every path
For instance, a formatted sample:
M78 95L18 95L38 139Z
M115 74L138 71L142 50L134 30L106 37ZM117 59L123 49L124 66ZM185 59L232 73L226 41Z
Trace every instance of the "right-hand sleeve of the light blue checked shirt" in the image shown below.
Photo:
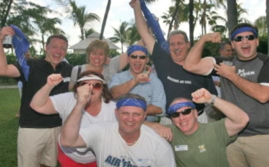
M163 85L157 77L152 77L152 86L153 91L152 91L151 104L160 107L162 113L158 114L158 116L163 116L165 113L165 104L166 104L166 97Z

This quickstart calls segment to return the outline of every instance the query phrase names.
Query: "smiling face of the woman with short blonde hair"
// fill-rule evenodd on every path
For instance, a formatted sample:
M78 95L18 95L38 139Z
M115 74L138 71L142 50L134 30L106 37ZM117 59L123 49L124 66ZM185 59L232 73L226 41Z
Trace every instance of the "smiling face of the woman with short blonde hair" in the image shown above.
M105 59L106 56L104 54L104 50L101 48L93 49L88 55L89 63L94 67L102 66Z

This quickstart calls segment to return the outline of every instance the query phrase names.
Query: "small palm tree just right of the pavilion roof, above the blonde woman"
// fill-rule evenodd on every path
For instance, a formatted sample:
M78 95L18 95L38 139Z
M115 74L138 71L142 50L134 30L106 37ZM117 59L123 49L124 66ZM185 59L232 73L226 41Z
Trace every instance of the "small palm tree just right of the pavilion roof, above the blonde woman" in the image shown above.
M109 37L108 39L111 42L120 42L121 44L121 52L123 53L123 44L127 42L127 28L128 22L122 21L118 27L118 29L112 27L114 30L114 36Z

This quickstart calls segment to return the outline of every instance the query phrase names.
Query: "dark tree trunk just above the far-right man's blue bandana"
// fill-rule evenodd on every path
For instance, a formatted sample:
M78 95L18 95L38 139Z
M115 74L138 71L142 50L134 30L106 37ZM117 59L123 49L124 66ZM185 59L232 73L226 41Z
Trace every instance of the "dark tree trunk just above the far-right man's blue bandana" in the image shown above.
M231 28L237 24L236 0L227 0L227 27L230 34Z

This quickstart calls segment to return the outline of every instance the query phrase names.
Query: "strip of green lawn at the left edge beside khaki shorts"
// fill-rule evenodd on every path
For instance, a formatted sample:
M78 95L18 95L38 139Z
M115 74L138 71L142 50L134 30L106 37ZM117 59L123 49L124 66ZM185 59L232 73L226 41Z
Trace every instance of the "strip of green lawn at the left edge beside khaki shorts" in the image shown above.
M0 88L0 166L17 166L17 129L15 117L20 101L17 88Z

